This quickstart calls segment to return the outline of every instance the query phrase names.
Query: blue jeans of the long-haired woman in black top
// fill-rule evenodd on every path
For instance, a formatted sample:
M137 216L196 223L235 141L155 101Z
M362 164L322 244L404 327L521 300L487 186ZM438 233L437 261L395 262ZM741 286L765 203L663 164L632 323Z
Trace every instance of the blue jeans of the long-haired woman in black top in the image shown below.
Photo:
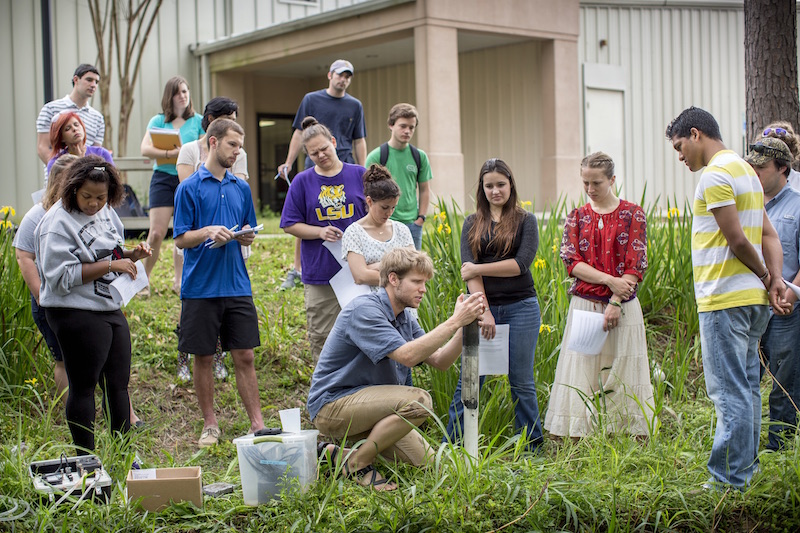
M533 358L539 338L539 302L535 296L507 305L490 305L496 324L508 324L508 382L514 403L514 429L527 431L529 448L535 450L543 441ZM483 386L483 378L480 384ZM461 402L461 376L448 412L447 431L442 442L456 442L464 432L464 404Z

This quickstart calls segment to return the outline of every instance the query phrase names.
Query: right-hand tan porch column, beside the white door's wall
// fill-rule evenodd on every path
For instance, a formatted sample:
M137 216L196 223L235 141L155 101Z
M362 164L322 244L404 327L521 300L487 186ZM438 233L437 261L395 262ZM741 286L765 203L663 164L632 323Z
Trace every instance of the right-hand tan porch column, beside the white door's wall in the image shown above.
M536 207L582 189L581 99L577 41L552 40L542 47L542 179ZM537 199L538 200L538 199Z

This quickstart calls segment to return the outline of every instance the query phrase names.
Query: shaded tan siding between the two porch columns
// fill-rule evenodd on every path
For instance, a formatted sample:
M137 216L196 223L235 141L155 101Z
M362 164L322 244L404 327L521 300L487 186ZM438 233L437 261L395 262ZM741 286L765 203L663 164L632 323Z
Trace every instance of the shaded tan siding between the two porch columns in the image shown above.
M459 54L461 144L471 200L480 168L492 157L509 164L521 200L535 201L541 181L552 179L538 174L540 54L534 41ZM464 207L473 208L471 202Z

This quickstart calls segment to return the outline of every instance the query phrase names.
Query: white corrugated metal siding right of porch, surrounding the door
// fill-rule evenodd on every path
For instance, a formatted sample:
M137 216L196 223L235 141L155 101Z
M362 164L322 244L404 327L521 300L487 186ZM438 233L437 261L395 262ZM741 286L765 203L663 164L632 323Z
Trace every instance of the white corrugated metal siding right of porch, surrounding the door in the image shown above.
M741 9L581 6L579 60L627 73L625 196L661 205L692 196L696 177L664 130L690 105L708 109L727 146L741 152L744 15ZM599 50L607 39L608 50Z

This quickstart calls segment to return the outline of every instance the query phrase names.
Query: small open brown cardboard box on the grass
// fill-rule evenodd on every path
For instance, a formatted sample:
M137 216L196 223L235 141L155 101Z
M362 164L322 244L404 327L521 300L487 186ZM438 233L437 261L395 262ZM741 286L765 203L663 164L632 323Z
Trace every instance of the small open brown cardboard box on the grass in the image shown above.
M128 501L142 498L140 506L151 512L170 502L190 501L203 507L203 481L199 466L131 470L126 480Z

